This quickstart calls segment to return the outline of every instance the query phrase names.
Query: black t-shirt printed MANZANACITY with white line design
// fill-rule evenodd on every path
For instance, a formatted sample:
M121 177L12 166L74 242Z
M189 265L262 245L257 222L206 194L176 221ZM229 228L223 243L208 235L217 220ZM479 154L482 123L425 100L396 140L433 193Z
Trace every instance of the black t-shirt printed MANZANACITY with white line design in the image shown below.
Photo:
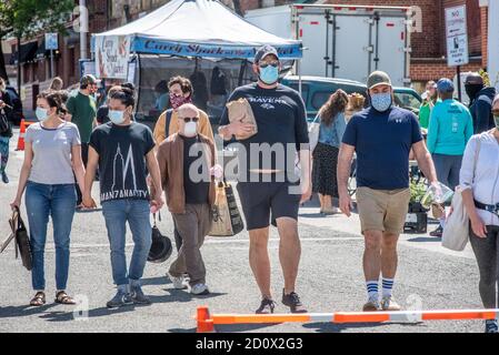
M99 154L100 202L149 200L146 155L154 148L151 130L137 122L106 123L90 136Z

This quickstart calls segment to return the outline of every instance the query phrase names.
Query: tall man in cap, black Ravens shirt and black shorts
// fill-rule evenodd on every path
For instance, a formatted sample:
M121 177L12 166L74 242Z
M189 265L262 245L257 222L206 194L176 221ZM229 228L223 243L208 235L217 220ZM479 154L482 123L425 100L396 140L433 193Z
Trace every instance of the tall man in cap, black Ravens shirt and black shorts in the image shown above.
M278 83L280 69L277 50L262 47L253 63L258 82L236 89L228 100L248 100L258 126L257 134L239 141L237 186L250 235L250 266L262 294L258 314L273 313L275 308L267 247L269 220L277 224L281 239L282 303L292 313L307 312L295 285L301 254L298 210L300 202L311 195L309 139L303 101L298 92ZM251 124L238 118L229 120L228 110L224 110L219 129L223 140L250 132L253 132ZM296 172L297 156L301 176Z

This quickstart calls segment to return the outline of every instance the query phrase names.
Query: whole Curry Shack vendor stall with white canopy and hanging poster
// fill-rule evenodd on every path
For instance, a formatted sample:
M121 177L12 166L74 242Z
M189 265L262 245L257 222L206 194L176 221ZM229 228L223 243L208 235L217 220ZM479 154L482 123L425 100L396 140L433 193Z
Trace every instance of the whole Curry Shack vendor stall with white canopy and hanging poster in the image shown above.
M96 73L133 80L139 88L138 119L156 122L168 106L166 83L190 78L194 103L214 120L227 95L255 80L256 50L276 47L288 69L302 57L300 41L268 33L233 13L218 0L172 0L143 18L93 37ZM129 60L137 67L130 75Z

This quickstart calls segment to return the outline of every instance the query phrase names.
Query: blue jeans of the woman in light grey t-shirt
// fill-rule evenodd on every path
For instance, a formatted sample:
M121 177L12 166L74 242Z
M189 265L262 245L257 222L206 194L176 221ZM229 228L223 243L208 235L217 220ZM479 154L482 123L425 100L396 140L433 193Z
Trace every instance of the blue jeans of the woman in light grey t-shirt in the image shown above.
M33 255L31 281L33 290L44 290L44 248L49 215L52 217L56 244L57 290L66 290L69 272L69 242L77 196L74 184L39 184L29 181L26 187L26 210Z

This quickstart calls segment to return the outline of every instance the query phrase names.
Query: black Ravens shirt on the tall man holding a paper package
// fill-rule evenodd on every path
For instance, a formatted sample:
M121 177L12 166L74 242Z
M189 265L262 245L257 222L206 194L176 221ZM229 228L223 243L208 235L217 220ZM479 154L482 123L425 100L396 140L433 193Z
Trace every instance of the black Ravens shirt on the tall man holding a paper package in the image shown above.
M239 141L240 173L255 170L277 170L295 173L296 152L308 149L307 112L300 94L279 84L263 89L257 83L236 89L229 102L247 99L253 111L258 133ZM223 111L220 125L229 124L228 110ZM242 175L239 179L243 178Z

